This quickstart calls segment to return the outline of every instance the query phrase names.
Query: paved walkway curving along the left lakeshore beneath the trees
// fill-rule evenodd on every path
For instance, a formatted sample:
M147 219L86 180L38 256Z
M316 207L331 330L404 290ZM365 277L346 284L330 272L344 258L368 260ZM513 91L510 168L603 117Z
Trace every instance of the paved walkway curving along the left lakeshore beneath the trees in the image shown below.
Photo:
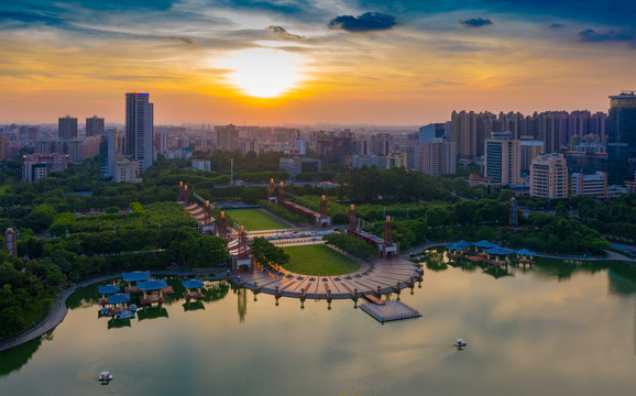
M215 272L215 271L216 271L215 268L198 268L196 271L182 271L182 270L161 271L160 270L160 271L151 271L151 273L154 275L187 276L187 275L191 275L191 274L209 274L209 273ZM67 289L62 292L62 294L57 297L57 299L53 304L53 307L51 308L51 310L48 311L48 314L46 315L44 320L42 320L35 327L15 336L15 337L12 337L12 338L6 339L6 340L0 340L0 352L6 351L6 350L11 349L11 348L14 348L14 346L18 346L20 344L23 344L28 341L31 341L31 340L33 340L33 339L42 336L42 334L47 333L51 330L53 330L66 317L66 311L67 311L66 299L72 294L77 292L78 289L86 287L86 286L94 285L94 284L99 283L99 282L117 279L117 278L121 278L121 273L111 274L111 275L103 275L103 276L99 276L96 278L86 279L86 280L83 280L76 285L68 287ZM221 274L221 275L218 275L217 278L218 279L224 279L226 276L224 276L224 274Z

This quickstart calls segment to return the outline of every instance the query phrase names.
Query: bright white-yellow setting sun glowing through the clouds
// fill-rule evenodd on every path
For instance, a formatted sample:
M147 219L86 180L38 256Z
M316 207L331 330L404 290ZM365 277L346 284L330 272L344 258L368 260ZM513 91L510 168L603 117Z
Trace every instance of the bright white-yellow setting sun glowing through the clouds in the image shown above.
M222 59L220 66L231 70L227 75L231 85L256 98L279 97L305 79L303 57L282 50L237 51Z

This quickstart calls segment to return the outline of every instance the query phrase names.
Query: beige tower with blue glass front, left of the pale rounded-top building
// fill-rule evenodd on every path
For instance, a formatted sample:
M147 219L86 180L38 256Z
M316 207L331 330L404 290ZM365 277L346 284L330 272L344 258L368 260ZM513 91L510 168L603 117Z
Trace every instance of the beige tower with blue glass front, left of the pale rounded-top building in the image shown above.
M484 176L503 186L516 185L522 175L520 144L511 135L511 132L493 133L492 139L485 140Z

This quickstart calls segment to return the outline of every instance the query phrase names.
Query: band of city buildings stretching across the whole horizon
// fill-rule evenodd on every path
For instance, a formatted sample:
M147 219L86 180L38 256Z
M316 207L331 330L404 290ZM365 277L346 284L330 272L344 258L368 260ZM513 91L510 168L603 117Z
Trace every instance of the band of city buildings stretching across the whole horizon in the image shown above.
M26 148L25 183L98 157L101 177L141 182L161 155L190 160L216 150L284 153L281 170L292 178L320 172L322 164L348 168L405 167L427 175L453 175L479 165L471 186L512 188L517 195L568 198L589 195L612 199L636 191L636 95L610 96L608 113L548 111L453 111L450 120L423 127L380 125L154 125L149 94L125 94L125 125L103 118L61 117L53 125L0 125L0 160ZM193 167L210 169L209 161Z

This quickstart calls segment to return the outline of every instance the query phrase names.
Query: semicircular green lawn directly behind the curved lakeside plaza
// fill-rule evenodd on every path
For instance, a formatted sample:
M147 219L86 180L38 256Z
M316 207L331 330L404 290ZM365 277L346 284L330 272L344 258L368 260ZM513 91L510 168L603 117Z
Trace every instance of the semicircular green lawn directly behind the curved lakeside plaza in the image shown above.
M285 270L296 274L330 276L360 270L360 264L325 245L285 248L285 253L289 255Z

